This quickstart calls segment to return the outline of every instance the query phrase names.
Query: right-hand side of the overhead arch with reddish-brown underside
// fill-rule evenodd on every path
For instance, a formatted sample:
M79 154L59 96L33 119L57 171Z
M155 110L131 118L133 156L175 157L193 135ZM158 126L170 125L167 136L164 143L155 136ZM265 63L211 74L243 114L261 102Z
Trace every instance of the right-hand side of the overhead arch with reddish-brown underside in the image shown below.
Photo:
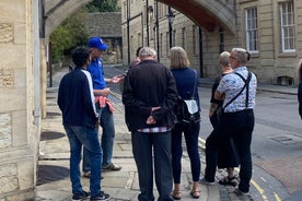
M234 0L159 0L212 32L217 26L236 34Z

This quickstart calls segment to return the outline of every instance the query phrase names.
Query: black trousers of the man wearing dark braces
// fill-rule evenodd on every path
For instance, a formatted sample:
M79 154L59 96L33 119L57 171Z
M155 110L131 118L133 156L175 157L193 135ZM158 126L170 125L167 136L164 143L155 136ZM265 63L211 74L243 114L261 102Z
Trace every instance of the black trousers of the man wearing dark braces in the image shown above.
M239 188L243 192L249 191L252 178L251 142L254 125L255 117L252 109L223 114L219 126L210 134L210 138L207 139L206 179L209 181L214 180L219 146L223 145L230 138L233 138L241 163Z

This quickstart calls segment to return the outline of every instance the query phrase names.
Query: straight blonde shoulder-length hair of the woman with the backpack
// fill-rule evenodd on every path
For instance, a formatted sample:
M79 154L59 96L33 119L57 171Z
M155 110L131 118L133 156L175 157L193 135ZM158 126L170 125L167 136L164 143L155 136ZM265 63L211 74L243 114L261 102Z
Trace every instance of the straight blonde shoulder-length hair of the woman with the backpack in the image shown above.
M173 47L170 50L170 69L184 69L189 67L186 51L182 47Z

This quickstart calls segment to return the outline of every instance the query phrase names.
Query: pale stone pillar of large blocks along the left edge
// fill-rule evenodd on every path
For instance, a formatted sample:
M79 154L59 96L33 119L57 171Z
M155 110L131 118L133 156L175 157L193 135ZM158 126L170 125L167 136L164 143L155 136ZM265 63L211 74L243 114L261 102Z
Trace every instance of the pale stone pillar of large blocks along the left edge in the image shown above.
M1 0L0 200L35 197L33 1Z

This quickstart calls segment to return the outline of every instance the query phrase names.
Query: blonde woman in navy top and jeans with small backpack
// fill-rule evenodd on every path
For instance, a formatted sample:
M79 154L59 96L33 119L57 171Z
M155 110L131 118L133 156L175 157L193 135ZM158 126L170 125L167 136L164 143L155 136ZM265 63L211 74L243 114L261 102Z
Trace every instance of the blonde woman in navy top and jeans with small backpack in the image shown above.
M186 51L181 47L173 47L171 49L171 64L170 69L175 78L178 96L183 99L194 98L197 102L199 111L199 96L198 96L198 80L197 72L189 68L189 60ZM181 174L182 174L182 134L184 133L186 140L187 152L190 159L193 187L190 196L194 199L200 197L199 176L200 176L200 156L198 152L198 135L200 130L200 123L195 122L190 126L177 122L172 130L172 167L174 177L174 189L172 197L174 200L182 198L181 193Z

